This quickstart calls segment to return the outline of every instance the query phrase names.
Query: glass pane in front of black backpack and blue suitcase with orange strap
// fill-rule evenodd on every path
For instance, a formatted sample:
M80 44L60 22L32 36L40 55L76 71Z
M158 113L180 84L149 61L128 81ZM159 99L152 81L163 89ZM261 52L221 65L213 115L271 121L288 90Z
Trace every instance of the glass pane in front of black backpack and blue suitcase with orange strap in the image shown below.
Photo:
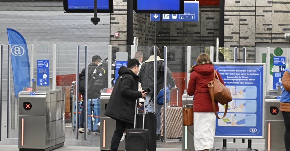
M87 127L87 140L100 139L100 97L104 89L108 86L108 76L115 77L115 64L116 64L116 49L112 53L111 62L109 62L108 46L87 46L87 115L84 116L87 120L81 123L80 127ZM126 58L127 59L127 58ZM111 75L109 75L109 66L111 66ZM100 70L98 70L100 69ZM81 71L81 70L80 70ZM110 86L113 86L114 79L111 80ZM83 109L85 105L83 103ZM82 117L81 117L82 119ZM80 134L84 135L84 134ZM80 137L83 139L83 136Z

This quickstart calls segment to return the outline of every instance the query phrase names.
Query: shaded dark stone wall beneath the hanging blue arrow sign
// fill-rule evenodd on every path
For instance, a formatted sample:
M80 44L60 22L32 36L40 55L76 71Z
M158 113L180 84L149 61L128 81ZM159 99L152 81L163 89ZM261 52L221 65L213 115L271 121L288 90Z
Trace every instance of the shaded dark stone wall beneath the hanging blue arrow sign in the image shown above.
M165 34L157 46L216 46L219 37L219 7L201 7L199 22L162 22ZM160 23L157 23L157 32Z

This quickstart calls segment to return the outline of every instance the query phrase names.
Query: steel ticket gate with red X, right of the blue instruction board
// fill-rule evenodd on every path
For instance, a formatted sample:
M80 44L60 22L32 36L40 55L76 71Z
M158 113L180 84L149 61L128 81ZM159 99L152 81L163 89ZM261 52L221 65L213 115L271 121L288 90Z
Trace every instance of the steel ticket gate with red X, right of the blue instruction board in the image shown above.
M265 150L285 151L285 125L277 90L266 92L265 100ZM280 93L281 94L281 93Z

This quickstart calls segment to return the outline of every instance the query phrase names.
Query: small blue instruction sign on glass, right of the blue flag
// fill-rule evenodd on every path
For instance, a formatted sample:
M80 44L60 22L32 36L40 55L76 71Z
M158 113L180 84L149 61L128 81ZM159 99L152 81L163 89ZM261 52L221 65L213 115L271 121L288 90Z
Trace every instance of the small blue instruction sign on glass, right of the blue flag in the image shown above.
M37 60L37 85L49 86L49 60Z

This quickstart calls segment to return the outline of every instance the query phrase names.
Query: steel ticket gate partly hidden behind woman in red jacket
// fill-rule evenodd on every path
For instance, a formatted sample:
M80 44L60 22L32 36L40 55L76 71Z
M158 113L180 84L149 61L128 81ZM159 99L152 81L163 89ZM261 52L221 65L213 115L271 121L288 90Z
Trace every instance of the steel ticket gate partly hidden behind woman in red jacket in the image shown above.
M182 95L182 106L191 104L193 106L193 96L188 96L186 90L184 90L184 93ZM188 106L188 107L192 107ZM182 117L183 121L183 117ZM193 141L193 135L188 131L188 128L193 133L194 127L191 126L182 126L182 151L194 151L194 141Z

